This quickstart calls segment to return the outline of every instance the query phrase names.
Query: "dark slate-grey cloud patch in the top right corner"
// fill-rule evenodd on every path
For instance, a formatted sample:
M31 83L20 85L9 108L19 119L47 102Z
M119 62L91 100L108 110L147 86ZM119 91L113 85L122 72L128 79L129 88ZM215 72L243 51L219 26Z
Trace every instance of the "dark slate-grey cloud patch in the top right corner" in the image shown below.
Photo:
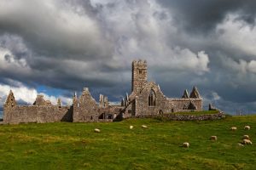
M165 7L170 8L178 24L186 31L196 31L204 34L212 31L215 26L224 20L228 13L239 13L240 20L248 24L255 23L254 0L159 0Z

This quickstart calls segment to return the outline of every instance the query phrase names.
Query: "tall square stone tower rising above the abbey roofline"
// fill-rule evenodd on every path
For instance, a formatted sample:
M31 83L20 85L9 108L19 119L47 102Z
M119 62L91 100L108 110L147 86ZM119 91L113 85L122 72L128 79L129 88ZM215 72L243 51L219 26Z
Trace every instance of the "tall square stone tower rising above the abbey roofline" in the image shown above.
M132 62L131 92L139 93L148 82L147 61L141 59Z

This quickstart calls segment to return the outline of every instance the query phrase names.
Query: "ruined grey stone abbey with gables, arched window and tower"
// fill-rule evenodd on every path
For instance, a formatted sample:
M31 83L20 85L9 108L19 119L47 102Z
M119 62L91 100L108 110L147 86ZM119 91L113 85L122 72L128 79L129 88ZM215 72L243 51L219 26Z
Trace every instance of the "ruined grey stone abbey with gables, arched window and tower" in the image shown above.
M132 116L161 115L179 111L201 111L202 99L193 88L184 90L181 98L168 98L155 82L148 82L147 62L134 60L131 65L131 94L125 95L120 105L109 105L108 97L100 95L99 102L84 88L80 97L73 96L73 105L62 106L38 95L33 105L17 105L10 91L3 105L3 123L26 122L112 122Z

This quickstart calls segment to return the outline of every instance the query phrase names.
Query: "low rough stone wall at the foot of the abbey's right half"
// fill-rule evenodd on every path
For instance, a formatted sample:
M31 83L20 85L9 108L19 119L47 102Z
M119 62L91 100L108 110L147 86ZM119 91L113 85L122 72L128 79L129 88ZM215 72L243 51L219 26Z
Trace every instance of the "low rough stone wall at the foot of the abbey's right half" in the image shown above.
M218 120L224 118L224 113L222 111L216 114L206 114L206 115L193 115L193 114L163 114L163 115L142 115L142 116L131 116L134 118L157 118L167 121L207 121L207 120ZM131 118L130 117L130 118Z

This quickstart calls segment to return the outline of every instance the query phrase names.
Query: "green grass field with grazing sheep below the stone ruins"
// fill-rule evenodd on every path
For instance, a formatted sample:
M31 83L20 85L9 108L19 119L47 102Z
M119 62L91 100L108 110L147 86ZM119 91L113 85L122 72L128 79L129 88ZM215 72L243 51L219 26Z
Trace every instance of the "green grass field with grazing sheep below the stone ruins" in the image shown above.
M251 130L243 130L245 125ZM5 125L0 126L0 169L255 169L255 144L237 145L244 134L256 141L255 133L256 116ZM218 141L210 141L212 135ZM179 147L183 142L189 149Z

